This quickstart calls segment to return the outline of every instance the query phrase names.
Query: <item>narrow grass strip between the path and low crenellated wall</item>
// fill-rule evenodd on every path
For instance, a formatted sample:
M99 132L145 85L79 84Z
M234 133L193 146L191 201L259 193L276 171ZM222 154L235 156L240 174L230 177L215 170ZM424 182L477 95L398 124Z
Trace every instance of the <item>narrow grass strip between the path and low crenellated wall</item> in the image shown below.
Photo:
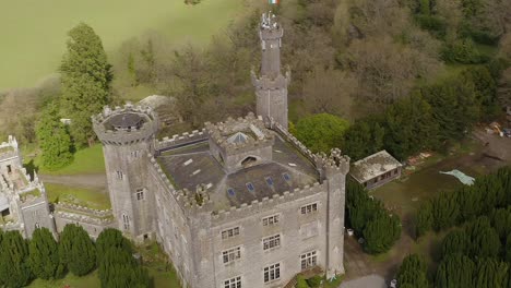
M94 209L109 209L111 207L108 194L103 191L54 183L45 183L45 188L48 201L52 203L80 204Z

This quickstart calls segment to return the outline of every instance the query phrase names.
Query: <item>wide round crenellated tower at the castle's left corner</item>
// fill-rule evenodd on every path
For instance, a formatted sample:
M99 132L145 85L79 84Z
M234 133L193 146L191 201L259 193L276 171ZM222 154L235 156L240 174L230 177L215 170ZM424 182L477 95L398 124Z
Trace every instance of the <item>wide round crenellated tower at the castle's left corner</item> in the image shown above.
M157 115L147 107L127 104L105 107L93 117L94 132L103 143L108 191L119 230L135 241L154 231L153 191L148 191L148 154L154 154Z

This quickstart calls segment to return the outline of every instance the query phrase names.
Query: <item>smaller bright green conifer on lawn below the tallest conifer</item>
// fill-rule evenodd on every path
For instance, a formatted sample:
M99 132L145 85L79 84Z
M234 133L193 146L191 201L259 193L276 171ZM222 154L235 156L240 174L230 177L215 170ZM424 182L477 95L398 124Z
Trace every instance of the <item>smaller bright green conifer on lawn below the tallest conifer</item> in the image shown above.
M37 140L43 151L43 166L58 169L73 160L71 137L60 122L58 107L49 104L36 127Z

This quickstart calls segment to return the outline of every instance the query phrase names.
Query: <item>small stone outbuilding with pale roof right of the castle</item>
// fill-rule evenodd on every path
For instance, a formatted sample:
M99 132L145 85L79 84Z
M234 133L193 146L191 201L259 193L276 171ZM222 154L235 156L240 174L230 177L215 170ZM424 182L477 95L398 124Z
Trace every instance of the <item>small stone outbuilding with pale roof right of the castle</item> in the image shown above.
M403 165L387 151L353 164L349 176L367 189L375 189L401 177Z

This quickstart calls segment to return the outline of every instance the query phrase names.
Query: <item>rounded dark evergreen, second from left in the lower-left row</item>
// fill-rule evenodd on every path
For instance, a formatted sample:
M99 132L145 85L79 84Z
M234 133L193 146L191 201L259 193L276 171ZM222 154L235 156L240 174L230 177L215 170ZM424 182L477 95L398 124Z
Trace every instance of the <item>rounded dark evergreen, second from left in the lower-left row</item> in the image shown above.
M28 264L37 278L48 280L62 275L63 265L59 259L59 247L48 228L34 230L28 251Z

